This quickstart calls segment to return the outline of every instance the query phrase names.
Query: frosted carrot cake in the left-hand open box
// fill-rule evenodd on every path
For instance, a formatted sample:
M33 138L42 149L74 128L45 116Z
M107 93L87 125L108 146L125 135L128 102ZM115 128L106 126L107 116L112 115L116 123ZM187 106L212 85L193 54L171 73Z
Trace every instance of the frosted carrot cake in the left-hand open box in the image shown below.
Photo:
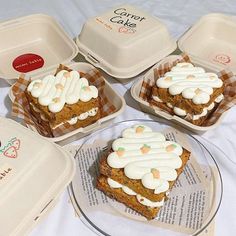
M33 80L25 93L31 113L51 132L65 123L85 127L101 117L98 89L75 70Z

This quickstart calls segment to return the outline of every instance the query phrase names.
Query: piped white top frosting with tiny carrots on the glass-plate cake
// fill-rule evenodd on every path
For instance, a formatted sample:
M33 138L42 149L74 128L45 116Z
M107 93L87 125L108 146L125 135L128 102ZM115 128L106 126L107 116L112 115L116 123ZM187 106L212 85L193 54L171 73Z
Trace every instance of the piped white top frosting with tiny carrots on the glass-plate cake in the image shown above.
M112 149L108 165L124 168L128 178L140 179L143 186L153 189L155 194L169 189L168 181L177 178L176 169L182 166L183 148L145 125L125 129L122 138L113 142Z

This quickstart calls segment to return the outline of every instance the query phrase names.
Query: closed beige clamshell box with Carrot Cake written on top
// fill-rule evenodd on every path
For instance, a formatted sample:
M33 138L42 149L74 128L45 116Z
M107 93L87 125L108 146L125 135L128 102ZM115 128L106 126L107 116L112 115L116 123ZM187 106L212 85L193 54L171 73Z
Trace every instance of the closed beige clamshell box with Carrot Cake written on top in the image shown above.
M130 5L89 19L76 42L86 60L121 81L176 49L176 42L159 19Z

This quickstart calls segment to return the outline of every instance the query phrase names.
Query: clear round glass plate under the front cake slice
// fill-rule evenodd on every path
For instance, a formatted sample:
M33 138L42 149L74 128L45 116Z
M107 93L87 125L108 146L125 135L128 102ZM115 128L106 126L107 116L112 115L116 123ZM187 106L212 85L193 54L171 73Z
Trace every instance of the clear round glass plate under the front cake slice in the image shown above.
M181 228L176 224L172 225L171 229L168 228L167 225L159 225L156 224L156 220L154 221L147 221L140 218L139 216L133 216L130 215L127 217L127 214L123 214L123 211L120 210L120 207L117 207L117 201L111 200L110 198L106 198L105 195L104 198L107 199L107 202L105 203L105 207L103 205L94 206L92 208L88 208L87 205L91 205L91 196L93 194L100 194L100 191L96 189L96 176L98 174L97 172L97 160L99 158L99 152L95 153L94 160L92 164L81 164L82 162L88 163L88 160L86 160L86 156L82 155L80 151L82 152L83 147L88 144L93 144L94 142L97 142L99 140L103 140L106 144L110 143L111 140L118 138L121 135L121 131L125 128L131 127L136 124L144 124L149 127L151 127L154 131L157 132L163 132L164 130L167 130L171 128L171 126L168 126L166 124L161 124L156 121L151 120L129 120L129 121L123 121L116 124L113 124L112 126L105 128L101 131L95 132L91 136L89 136L83 145L78 150L78 154L76 156L76 175L69 187L69 194L73 203L73 206L75 208L75 211L79 215L82 222L89 227L93 232L95 232L98 235L161 235L161 236L173 236L173 235L198 235L200 234L206 227L210 224L210 222L215 217L222 199L223 194L223 183L221 174L219 171L219 168L217 166L217 163L215 159L220 158L222 156L222 153L219 149L216 149L214 145L209 143L208 141L202 139L199 136L192 136L187 133L180 133L181 136L185 137L185 140L187 140L188 144L190 145L190 151L195 157L196 163L201 168L199 169L201 173L199 173L199 176L204 175L207 180L209 186L207 187L209 200L207 203L209 204L208 212L205 214L204 220L200 224L196 224L197 220L199 220L199 216L196 215L195 209L189 209L190 206L187 206L187 204L184 205L183 209L181 211L183 213L188 214L188 218L192 220L188 220L188 226L191 224L195 224L195 226L192 226L191 230L183 231ZM181 144L181 142L180 142ZM106 146L106 145L105 145ZM211 151L214 150L214 151ZM214 153L214 156L211 154ZM83 160L84 159L84 160ZM82 161L82 162L81 162ZM84 183L81 181L81 176L83 173L82 178L87 178L86 181L89 181L91 183L90 190L87 192L87 197L82 197L84 194ZM93 173L93 174L92 174ZM201 175L200 175L201 174ZM183 176L186 176L185 173L182 173L179 178L182 178ZM182 177L181 177L182 176ZM178 187L178 186L177 186ZM174 187L175 188L175 187ZM173 192L174 192L173 188ZM190 194L188 191L189 188L186 190L183 189L183 192L186 193L186 195ZM172 192L172 191L171 191ZM171 196L171 195L170 195ZM193 195L192 195L193 196ZM196 195L195 195L196 196ZM168 200L169 201L169 200ZM167 202L168 202L167 201ZM96 202L96 199L95 199ZM199 202L199 207L202 202ZM96 204L95 204L96 205ZM104 210L103 210L104 207ZM162 217L165 217L166 212L170 210L171 207L173 207L173 204L167 204L164 205L165 210L162 213ZM163 207L163 208L164 208ZM109 208L110 211L105 210ZM168 209L169 208L169 209ZM188 209L187 209L188 208ZM193 207L192 207L193 208ZM113 212L113 213L112 213ZM175 214L180 214L179 211L177 211ZM160 219L159 219L160 221ZM189 223L189 221L192 221L192 223ZM199 223L199 222L198 222ZM196 226L197 225L197 226ZM177 229L173 229L173 226L177 227ZM191 228L191 227L190 227Z

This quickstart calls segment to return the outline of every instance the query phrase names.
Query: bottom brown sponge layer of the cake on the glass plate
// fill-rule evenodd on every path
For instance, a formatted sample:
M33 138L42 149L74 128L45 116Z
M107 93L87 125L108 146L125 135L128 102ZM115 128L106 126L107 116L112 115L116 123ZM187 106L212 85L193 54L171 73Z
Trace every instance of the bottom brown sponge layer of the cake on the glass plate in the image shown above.
M141 204L136 196L128 195L121 188L111 188L107 182L107 177L100 175L97 179L97 188L107 196L116 199L131 209L145 216L148 220L154 219L160 207L148 207Z

